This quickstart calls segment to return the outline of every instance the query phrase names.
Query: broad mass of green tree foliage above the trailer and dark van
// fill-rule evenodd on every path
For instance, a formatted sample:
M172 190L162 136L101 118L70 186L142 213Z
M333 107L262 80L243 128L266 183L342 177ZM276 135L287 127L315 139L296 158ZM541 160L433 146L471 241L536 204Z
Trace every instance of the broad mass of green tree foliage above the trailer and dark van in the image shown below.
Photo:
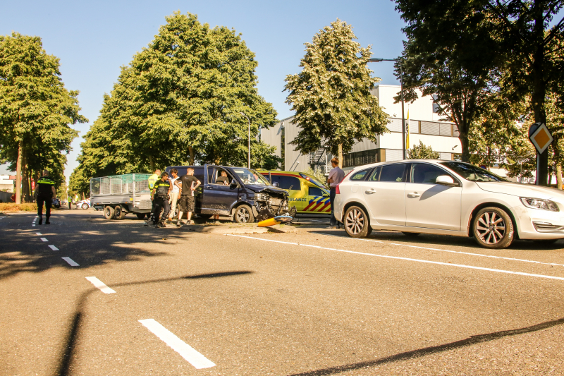
M257 61L235 30L209 28L179 12L121 69L100 116L82 142L73 189L85 179L147 172L175 164L277 166L274 148L256 140L276 111L257 92Z

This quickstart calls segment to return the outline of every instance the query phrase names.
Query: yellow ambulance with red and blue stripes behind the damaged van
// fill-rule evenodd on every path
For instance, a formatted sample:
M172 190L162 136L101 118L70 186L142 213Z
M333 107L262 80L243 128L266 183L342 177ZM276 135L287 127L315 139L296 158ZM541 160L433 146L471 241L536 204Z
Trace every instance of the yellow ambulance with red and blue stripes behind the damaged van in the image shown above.
M331 214L329 189L312 175L295 171L259 171L271 183L288 190L288 207L299 214Z

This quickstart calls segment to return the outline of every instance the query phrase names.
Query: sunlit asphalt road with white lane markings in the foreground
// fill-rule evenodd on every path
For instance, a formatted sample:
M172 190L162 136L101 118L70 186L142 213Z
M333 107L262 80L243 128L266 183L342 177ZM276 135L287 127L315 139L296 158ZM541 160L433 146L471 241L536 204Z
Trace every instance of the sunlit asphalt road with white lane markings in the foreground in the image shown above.
M564 241L34 218L0 219L0 375L564 375Z

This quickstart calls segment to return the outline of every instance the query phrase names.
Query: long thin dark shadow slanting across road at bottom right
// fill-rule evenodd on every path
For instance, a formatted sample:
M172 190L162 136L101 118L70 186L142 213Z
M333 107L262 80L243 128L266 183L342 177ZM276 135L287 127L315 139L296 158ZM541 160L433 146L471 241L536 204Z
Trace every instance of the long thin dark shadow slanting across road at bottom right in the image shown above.
M367 360L360 363L337 365L335 367L324 368L321 370L293 373L288 376L336 375L337 373L347 372L350 370L359 370L361 368L374 367L375 365L381 365L385 363L393 363L393 362L399 362L401 360L421 358L422 356L427 356L434 353L442 353L443 351L450 351L450 350L454 350L455 348L467 347L467 346L472 346L474 344L481 344L484 342L495 341L496 339L501 339L505 336L515 336L517 334L537 332L542 329L547 329L549 327L556 327L557 325L563 325L563 324L564 324L564 317L558 320L541 322L540 324L533 325L531 327L524 327L520 329L504 330L502 332L494 332L488 334L479 334L477 336L470 336L467 339L450 342L449 344L431 346L426 348L418 348L417 350L406 351L405 353L398 353L396 355L388 356L386 358Z

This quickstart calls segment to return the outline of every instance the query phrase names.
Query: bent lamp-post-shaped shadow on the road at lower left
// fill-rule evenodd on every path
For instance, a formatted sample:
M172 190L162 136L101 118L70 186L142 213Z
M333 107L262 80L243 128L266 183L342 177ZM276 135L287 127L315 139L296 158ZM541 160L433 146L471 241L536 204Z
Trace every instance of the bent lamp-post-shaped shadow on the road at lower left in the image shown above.
M133 285L143 285L143 284L157 284L171 281L178 281L182 279L211 279L211 278L221 278L221 277L235 277L245 274L252 274L253 272L249 270L236 270L231 272L216 272L209 274L195 274L187 275L182 277L171 277L162 279L149 279L147 281L134 281L125 282L121 284L111 284L109 287L118 288L121 286L133 286ZM75 313L73 314L73 320L71 326L68 329L68 334L65 341L63 342L63 348L57 361L56 370L54 372L55 376L68 376L72 375L73 358L77 353L77 341L80 336L80 326L82 325L82 320L84 317L85 306L88 296L93 292L99 292L98 289L88 289L87 291L80 294L80 297L75 304Z

